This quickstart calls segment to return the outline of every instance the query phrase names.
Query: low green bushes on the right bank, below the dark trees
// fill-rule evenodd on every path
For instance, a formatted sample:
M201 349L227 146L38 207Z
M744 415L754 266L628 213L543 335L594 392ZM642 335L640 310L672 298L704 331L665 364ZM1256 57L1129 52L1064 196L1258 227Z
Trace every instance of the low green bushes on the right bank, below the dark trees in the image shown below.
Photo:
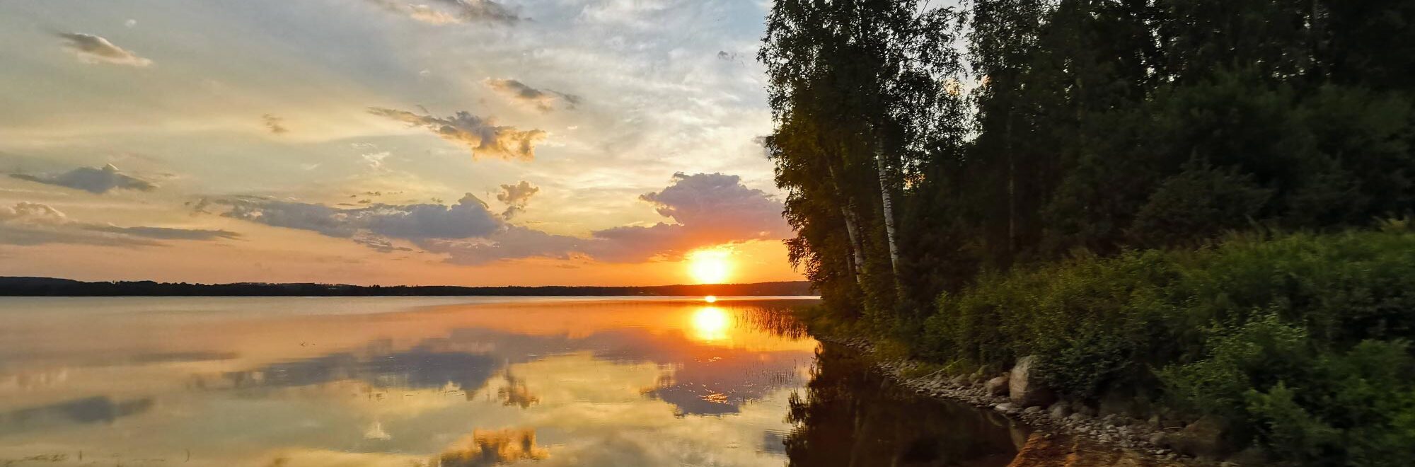
M1041 355L1064 396L1124 388L1285 460L1415 464L1407 222L1017 267L940 297L924 333L924 358L1000 371Z

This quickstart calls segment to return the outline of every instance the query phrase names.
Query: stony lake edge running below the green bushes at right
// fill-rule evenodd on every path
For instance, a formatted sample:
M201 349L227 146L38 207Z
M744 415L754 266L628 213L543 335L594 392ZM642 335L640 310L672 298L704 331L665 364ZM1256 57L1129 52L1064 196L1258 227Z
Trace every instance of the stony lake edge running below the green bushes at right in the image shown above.
M818 341L849 347L869 355L873 369L890 381L920 395L934 399L966 403L981 410L996 410L1010 420L1032 429L1026 446L1017 450L1017 457L1009 467L1032 466L1145 466L1145 467L1196 467L1221 466L1215 461L1199 460L1172 449L1155 444L1162 433L1177 432L1177 427L1152 426L1143 420L1129 420L1118 416L1053 417L1046 408L1013 408L1007 396L988 395L982 384L955 384L940 374L906 376L923 362L913 359L884 359L874 344L866 338L839 338L812 335ZM1224 466L1235 466L1223 463Z

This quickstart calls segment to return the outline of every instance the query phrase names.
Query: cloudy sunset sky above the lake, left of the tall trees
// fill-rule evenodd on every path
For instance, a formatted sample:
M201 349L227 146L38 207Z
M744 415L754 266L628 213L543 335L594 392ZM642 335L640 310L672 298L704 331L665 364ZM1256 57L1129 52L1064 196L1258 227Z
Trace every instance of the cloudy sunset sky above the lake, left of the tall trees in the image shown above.
M798 280L768 7L0 3L0 276Z

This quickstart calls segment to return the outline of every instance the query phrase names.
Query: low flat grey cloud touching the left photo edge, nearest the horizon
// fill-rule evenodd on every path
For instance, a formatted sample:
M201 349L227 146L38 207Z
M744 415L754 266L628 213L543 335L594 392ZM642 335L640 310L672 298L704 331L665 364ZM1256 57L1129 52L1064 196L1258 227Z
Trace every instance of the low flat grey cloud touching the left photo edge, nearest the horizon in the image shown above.
M59 209L38 202L0 207L0 243L79 243L109 246L157 246L158 241L219 241L241 235L231 231L181 229L167 226L117 226L74 221Z

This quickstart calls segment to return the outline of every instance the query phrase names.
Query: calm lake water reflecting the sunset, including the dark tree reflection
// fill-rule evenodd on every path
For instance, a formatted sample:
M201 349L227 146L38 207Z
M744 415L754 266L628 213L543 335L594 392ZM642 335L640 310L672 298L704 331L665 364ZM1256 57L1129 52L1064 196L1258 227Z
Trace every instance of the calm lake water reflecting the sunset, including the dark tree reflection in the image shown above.
M0 299L0 466L1010 461L792 303Z

